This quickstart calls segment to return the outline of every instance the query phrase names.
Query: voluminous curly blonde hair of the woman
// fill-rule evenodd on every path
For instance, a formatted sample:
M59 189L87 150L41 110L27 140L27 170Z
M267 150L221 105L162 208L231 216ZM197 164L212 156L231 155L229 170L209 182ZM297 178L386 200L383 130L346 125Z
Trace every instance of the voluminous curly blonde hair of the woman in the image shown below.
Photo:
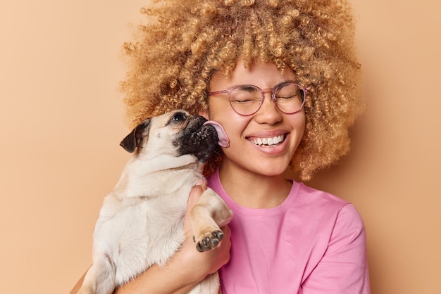
M213 72L228 76L237 60L257 59L290 68L309 87L306 129L291 162L301 179L349 151L362 105L347 1L156 0L141 12L147 23L125 44L121 84L132 126L173 109L207 110ZM212 158L207 170L218 164Z

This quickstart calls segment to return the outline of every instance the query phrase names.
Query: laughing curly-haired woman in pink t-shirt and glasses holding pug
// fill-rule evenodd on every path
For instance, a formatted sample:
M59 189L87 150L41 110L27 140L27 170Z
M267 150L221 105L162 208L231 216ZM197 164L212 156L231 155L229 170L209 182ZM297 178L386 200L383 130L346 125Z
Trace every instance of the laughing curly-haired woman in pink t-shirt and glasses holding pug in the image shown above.
M358 212L284 176L291 166L308 180L349 149L361 110L349 4L162 2L142 10L149 23L125 44L128 115L136 125L182 108L219 122L230 144L204 172L234 217L207 253L185 222L170 262L116 293L187 293L216 270L223 293L370 293Z

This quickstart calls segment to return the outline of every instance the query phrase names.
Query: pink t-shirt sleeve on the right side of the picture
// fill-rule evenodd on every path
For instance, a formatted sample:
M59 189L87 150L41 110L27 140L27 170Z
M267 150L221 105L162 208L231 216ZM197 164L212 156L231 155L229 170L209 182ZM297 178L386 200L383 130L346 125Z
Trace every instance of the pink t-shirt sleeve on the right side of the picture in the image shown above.
M328 248L302 283L303 294L370 294L366 232L352 204L342 207Z

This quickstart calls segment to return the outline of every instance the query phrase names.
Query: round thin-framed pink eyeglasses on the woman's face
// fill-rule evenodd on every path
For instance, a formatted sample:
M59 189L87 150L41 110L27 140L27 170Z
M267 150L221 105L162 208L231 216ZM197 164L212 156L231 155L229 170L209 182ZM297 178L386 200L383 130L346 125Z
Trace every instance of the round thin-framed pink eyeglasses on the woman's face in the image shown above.
M263 104L265 93L271 92L275 106L282 113L294 114L302 109L308 89L293 81L282 82L272 89L260 89L252 84L242 84L222 91L209 92L209 96L228 94L230 105L239 115L254 115Z

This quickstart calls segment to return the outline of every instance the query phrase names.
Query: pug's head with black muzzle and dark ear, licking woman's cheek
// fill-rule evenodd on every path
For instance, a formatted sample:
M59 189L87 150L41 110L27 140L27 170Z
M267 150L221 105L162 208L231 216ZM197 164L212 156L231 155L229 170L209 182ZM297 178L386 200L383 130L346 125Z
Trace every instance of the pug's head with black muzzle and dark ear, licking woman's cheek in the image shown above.
M204 122L204 117L190 115L184 110L174 110L144 120L120 145L126 151L149 153L151 157L160 154L176 157L192 154L200 162L205 162L218 145L218 134L213 126L204 125Z

